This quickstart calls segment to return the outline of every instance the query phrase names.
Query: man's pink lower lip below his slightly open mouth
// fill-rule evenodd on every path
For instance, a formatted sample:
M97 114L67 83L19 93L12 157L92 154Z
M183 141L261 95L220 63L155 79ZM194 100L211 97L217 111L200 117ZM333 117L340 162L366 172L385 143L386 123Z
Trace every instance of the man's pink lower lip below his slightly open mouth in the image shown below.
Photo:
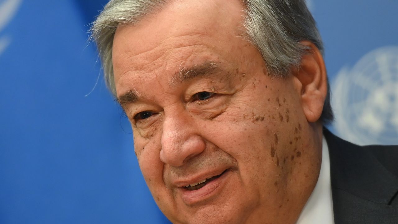
M186 205L194 205L206 199L211 198L222 190L226 185L226 179L229 175L229 170L225 171L219 178L214 179L207 183L200 189L189 191L181 187L181 199Z

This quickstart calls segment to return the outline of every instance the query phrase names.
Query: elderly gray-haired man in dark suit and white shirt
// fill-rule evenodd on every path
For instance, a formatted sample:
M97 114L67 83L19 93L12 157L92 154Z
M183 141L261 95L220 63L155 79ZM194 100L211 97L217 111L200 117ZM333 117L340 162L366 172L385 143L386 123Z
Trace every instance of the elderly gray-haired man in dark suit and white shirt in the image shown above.
M322 134L333 115L304 0L111 0L92 32L173 223L398 222L396 150Z

